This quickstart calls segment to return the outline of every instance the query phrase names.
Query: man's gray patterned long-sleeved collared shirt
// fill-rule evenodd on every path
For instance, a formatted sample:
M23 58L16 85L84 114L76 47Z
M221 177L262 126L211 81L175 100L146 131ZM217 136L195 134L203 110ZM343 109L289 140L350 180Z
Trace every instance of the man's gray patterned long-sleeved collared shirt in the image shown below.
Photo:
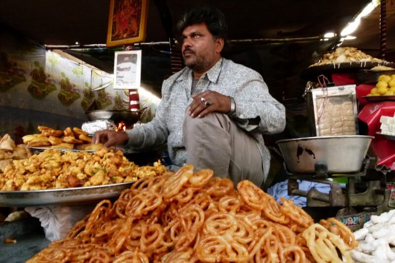
M187 152L182 141L182 125L187 107L193 101L192 79L193 71L184 68L163 81L162 99L155 118L145 125L126 131L129 136L128 147L142 150L167 141L172 162L177 166L185 164ZM274 134L284 130L284 106L269 94L268 86L259 73L224 58L200 77L193 94L205 90L234 97L237 124L256 139L266 178L270 167L270 153L264 145L262 134ZM259 124L248 123L249 119L257 117Z

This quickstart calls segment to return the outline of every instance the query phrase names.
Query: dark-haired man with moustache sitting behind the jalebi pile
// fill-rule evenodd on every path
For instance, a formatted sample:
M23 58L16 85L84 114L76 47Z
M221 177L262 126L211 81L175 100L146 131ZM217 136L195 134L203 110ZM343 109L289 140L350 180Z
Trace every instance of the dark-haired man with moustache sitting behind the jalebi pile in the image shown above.
M270 165L262 134L284 129L283 105L261 75L222 58L227 25L219 10L191 9L177 26L187 67L163 81L153 121L126 132L98 132L93 143L139 150L167 141L179 167L190 163L235 184L247 179L261 186Z

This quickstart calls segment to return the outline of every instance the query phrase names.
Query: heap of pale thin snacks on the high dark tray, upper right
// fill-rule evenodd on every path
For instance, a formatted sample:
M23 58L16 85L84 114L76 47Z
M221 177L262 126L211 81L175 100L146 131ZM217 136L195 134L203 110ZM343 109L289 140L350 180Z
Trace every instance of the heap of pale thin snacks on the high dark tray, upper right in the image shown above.
M344 62L385 62L384 60L374 58L364 52L356 49L355 47L338 47L331 53L326 53L322 58L310 67L320 66L333 63Z

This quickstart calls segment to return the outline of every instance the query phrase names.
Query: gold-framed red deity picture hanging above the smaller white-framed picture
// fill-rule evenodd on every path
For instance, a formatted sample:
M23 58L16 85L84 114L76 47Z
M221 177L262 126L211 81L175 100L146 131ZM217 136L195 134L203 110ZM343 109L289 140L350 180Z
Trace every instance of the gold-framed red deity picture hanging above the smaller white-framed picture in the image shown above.
M110 0L107 46L144 41L148 0Z

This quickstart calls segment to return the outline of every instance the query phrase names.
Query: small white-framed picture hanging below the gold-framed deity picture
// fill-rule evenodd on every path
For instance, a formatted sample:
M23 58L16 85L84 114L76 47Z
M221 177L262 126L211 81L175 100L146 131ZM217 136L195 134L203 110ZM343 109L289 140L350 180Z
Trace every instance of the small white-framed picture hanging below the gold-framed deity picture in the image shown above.
M115 52L114 89L140 88L141 50Z

